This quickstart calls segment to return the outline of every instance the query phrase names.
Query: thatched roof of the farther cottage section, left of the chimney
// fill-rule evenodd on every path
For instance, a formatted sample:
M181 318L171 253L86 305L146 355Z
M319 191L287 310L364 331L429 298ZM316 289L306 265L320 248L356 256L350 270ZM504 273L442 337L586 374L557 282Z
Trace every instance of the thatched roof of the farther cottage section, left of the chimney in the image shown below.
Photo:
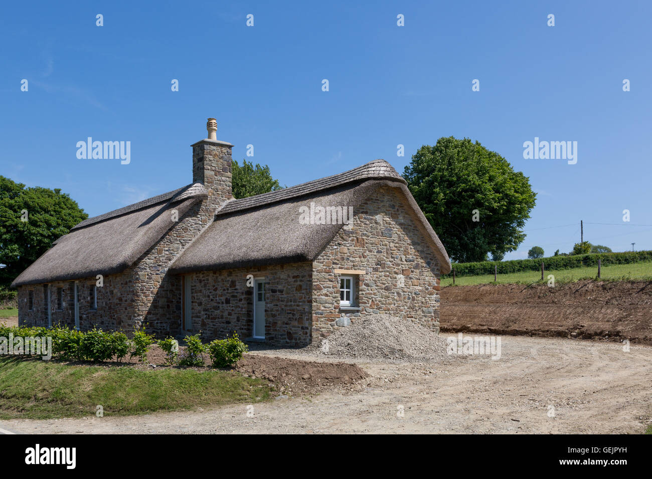
M181 218L207 193L202 184L189 184L88 218L57 239L12 287L122 272L174 225L171 210Z

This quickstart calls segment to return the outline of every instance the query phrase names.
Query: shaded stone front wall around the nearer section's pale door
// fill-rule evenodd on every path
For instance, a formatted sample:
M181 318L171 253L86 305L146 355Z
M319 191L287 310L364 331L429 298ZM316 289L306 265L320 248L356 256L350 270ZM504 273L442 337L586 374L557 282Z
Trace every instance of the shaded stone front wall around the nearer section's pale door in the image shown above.
M191 281L192 330L201 338L224 338L234 331L252 336L253 291L249 274L265 278L265 341L279 346L310 343L312 324L311 263L239 268L186 275ZM179 294L170 297L172 310L181 317L181 276L172 283Z

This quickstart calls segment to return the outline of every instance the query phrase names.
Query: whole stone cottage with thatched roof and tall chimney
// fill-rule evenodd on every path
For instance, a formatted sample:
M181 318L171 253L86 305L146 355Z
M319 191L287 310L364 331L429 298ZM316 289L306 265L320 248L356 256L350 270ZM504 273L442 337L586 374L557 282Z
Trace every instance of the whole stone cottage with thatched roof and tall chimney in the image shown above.
M439 331L449 257L389 163L234 199L233 145L207 130L191 184L84 220L14 280L21 325L294 346L385 313Z

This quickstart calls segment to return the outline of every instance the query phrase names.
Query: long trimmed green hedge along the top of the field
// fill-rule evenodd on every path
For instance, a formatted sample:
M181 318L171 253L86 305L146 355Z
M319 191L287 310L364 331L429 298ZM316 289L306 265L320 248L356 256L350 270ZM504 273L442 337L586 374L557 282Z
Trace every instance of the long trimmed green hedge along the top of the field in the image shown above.
M513 259L512 261L481 261L479 263L452 263L456 276L478 276L479 274L494 274L494 267L498 274L516 273L520 271L540 271L541 263L546 270L572 269L582 266L596 266L600 259L604 265L627 265L652 261L652 251L636 251L624 253L598 253L578 254L570 256L548 256L538 259ZM449 274L442 274L442 278L451 278Z

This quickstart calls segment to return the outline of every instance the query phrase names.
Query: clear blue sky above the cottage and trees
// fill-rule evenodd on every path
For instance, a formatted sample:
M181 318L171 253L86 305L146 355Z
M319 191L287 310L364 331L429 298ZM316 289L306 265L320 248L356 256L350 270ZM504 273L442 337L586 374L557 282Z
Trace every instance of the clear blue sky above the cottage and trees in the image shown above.
M402 173L421 145L478 140L538 193L527 238L505 259L535 245L568 252L580 220L593 243L652 250L652 3L35 1L3 10L0 174L61 188L91 216L188 184L190 144L215 117L234 159L254 145L248 160L287 186L375 158ZM130 164L78 159L76 143L89 136L130 141ZM524 159L535 137L577 141L577 163Z

